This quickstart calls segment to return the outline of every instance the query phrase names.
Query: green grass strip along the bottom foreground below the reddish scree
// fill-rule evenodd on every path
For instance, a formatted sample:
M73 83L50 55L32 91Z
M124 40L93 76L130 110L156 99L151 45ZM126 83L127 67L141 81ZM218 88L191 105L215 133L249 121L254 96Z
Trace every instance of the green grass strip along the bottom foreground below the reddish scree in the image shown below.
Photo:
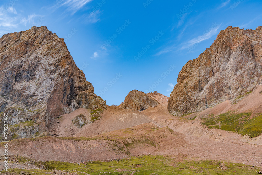
M80 163L80 162L79 162ZM258 167L237 164L224 161L187 161L181 163L181 157L171 158L163 156L140 156L129 157L122 160L84 162L81 167L77 163L65 163L58 161L36 162L36 166L44 167L46 170L24 170L26 174L45 175L51 174L50 170L56 169L76 174L113 174L113 175L173 175L173 174L255 174L260 171ZM221 167L225 169L221 169ZM21 173L21 169L9 169L9 172ZM3 173L1 171L0 173ZM110 172L110 173L109 173ZM53 174L53 173L52 173Z

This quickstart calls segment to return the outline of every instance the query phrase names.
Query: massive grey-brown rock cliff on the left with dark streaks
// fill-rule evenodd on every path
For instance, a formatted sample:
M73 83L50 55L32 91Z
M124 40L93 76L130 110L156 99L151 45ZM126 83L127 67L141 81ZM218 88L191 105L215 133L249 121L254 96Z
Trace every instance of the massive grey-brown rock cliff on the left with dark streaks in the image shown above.
M0 112L8 113L18 137L45 132L52 118L80 107L106 109L64 40L46 27L4 35L0 70Z

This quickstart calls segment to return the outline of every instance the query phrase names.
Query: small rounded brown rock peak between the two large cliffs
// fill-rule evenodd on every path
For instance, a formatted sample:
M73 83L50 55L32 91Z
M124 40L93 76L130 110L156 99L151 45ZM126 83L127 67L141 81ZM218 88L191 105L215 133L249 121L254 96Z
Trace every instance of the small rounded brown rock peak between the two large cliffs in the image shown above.
M122 109L135 109L143 111L148 107L156 107L159 103L150 96L147 96L144 92L133 90L125 97L125 101L121 104Z

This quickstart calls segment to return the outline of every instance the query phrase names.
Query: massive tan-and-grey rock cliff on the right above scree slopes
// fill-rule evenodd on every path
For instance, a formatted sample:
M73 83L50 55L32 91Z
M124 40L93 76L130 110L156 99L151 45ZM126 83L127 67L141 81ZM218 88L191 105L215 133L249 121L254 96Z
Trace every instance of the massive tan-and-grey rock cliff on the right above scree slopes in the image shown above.
M212 46L183 66L168 101L171 114L202 111L225 100L234 103L262 78L262 27L222 30Z

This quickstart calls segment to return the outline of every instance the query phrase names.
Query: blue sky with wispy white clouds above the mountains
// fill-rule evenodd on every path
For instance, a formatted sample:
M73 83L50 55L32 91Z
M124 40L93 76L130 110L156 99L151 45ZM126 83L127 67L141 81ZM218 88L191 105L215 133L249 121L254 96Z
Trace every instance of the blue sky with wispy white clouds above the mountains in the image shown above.
M258 0L0 1L0 36L47 26L95 93L119 105L132 90L169 96L181 68L228 26L262 25Z

